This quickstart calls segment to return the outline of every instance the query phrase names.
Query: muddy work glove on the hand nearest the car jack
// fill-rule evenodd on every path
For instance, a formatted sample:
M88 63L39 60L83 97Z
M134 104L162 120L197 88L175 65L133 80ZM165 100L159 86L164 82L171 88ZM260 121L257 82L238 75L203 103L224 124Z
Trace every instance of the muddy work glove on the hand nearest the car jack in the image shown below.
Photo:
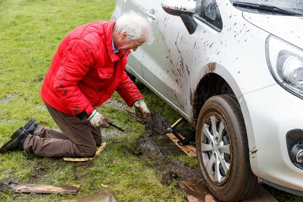
M148 127L149 125L146 122L151 123L151 113L149 112L144 100L135 101L135 112L138 117L137 121Z

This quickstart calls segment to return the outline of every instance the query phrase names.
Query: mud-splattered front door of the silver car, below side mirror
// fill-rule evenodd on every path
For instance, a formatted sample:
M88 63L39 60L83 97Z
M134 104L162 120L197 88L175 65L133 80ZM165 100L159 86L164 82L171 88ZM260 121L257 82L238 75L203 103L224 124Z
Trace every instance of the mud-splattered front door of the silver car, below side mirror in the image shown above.
M173 0L172 0L173 1ZM187 111L189 78L196 56L196 41L201 26L190 35L178 16L168 15L161 7L162 0L142 3L155 34L151 45L144 44L142 70L144 80L179 112Z

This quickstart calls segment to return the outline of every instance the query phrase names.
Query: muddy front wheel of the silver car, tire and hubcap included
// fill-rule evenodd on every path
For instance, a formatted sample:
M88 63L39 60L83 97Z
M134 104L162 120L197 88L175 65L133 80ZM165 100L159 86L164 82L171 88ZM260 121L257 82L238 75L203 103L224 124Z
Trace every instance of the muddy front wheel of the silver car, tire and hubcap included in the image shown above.
M235 96L216 95L205 102L196 148L205 185L219 200L244 200L260 188L251 171L245 123Z

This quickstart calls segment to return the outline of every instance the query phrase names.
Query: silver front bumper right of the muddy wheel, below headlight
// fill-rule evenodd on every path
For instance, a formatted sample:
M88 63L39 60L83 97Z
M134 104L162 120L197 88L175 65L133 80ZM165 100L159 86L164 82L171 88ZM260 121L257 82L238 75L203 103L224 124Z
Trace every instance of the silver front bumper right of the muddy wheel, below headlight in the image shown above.
M238 98L248 135L251 169L274 184L303 191L303 170L292 164L286 134L303 129L303 100L275 84Z

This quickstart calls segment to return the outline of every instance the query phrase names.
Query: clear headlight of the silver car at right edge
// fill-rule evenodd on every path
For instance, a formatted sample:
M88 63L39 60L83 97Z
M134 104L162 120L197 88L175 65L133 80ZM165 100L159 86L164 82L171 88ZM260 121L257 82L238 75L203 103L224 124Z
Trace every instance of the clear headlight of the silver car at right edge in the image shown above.
M303 99L303 50L269 35L266 39L266 57L276 81Z

